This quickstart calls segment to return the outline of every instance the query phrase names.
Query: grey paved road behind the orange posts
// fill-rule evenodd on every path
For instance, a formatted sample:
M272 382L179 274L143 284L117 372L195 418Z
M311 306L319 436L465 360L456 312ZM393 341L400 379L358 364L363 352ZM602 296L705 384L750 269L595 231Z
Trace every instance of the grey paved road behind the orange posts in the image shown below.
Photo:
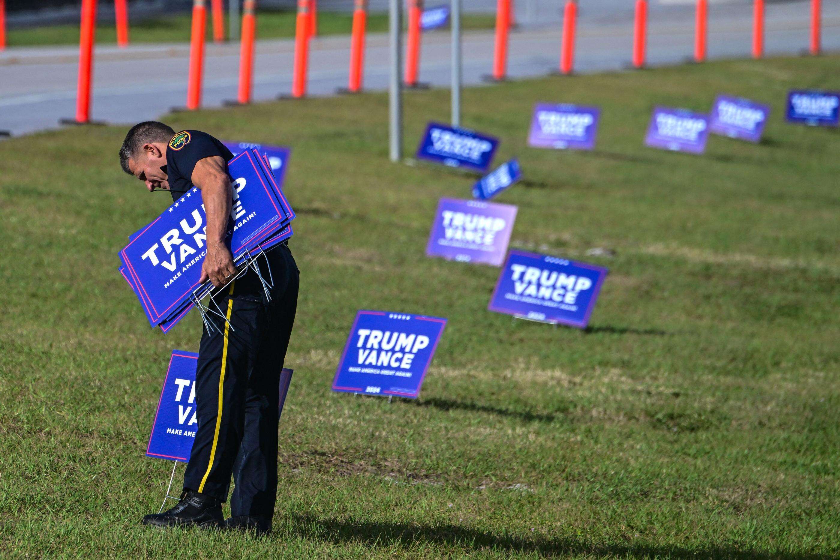
M485 2L486 0L481 0ZM648 23L650 65L679 63L693 50L691 0L659 0L652 4ZM528 0L517 3L523 23L511 36L509 75L539 76L554 70L559 58L559 3L547 8L538 3L541 24L524 24ZM431 3L431 0L429 0ZM768 55L798 54L809 37L810 3L768 3L766 40ZM580 9L575 70L611 71L627 65L632 44L632 3L591 0ZM555 9L556 8L556 9ZM533 16L533 12L530 14ZM553 19L554 18L554 19ZM742 0L711 0L710 58L747 57L750 52L752 9ZM840 50L840 1L824 0L823 45ZM257 45L255 99L273 99L291 90L294 44L291 40L265 40ZM464 37L464 78L479 84L491 70L493 34L470 32ZM236 95L239 47L208 44L206 49L205 106L219 106ZM97 48L92 116L108 123L136 123L157 118L186 99L186 44L133 45L126 50ZM346 85L349 39L314 39L310 53L309 93L331 95ZM387 86L387 38L371 34L366 52L365 87ZM14 135L56 128L60 118L71 118L76 103L77 52L75 48L8 49L0 55L0 130ZM423 37L420 77L434 86L449 85L449 35Z

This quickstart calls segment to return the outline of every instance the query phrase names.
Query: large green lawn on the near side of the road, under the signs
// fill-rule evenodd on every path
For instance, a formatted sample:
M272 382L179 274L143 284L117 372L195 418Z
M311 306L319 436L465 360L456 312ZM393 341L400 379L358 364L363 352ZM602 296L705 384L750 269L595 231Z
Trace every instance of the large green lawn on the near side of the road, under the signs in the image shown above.
M784 122L840 58L728 61L467 89L464 123L525 180L512 246L601 264L591 328L486 311L495 268L424 255L472 180L387 160L387 97L165 118L293 147L302 292L267 538L159 531L171 463L144 457L172 348L117 273L165 208L123 175L126 127L0 143L0 551L10 557L840 556L840 136ZM654 104L772 106L762 144L643 146ZM534 102L602 107L591 153L530 149ZM406 143L449 92L406 97ZM592 248L615 256L589 257ZM418 400L333 394L358 309L448 317ZM179 467L178 478L183 471Z

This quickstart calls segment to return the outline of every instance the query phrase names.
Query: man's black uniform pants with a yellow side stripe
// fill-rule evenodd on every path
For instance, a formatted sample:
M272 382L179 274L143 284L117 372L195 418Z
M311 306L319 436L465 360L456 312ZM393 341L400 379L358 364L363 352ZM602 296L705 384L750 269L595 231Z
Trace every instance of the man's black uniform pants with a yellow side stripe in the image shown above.
M231 474L232 516L273 516L277 496L277 423L280 372L297 309L298 270L285 246L260 256L265 298L253 270L217 296L228 322L213 313L198 350L198 428L184 489L225 501Z

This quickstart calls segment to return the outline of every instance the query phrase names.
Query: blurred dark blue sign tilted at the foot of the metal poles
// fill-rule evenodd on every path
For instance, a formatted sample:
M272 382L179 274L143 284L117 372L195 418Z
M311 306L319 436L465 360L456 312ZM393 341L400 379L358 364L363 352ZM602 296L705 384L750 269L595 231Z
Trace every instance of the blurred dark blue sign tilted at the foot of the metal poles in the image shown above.
M499 140L492 136L465 128L428 123L417 147L417 159L484 173L490 168L498 144Z

